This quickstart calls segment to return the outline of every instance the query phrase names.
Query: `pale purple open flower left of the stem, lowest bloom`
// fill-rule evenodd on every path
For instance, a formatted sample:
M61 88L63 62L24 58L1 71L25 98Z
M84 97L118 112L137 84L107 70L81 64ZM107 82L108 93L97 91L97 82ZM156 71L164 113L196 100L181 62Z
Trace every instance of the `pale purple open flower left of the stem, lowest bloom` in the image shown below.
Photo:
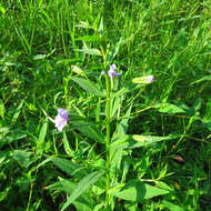
M66 109L58 109L58 114L54 119L56 128L61 132L64 125L68 123L69 117Z

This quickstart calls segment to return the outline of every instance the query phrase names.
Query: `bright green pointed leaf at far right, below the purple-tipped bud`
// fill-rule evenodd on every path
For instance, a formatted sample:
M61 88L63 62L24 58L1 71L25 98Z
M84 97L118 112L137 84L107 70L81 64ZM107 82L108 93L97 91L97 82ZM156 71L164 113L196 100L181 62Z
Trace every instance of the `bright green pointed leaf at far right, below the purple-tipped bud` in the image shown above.
M154 108L161 113L184 113L185 111L175 104L171 103L159 103Z

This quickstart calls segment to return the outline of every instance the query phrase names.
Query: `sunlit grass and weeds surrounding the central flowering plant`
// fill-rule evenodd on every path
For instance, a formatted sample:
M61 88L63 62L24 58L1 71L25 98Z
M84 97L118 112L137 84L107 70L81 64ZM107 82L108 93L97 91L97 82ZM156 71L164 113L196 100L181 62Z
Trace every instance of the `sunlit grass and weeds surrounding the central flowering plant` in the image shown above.
M83 47L84 37L89 47L98 47L92 29L80 24L93 24L99 12L107 43L119 43L114 62L123 72L121 83L145 74L157 79L123 99L122 114L133 102L128 133L179 135L129 152L129 181L163 174L162 181L171 188L170 194L140 202L134 209L173 210L174 204L209 211L209 0L0 0L1 210L58 210L66 201L62 191L44 187L67 174L50 163L34 170L48 155L68 157L61 134L53 124L47 125L42 109L51 117L57 107L63 107L91 120L103 119L98 111L102 102L69 79L74 74L71 66L77 66L101 86L101 58L74 50ZM71 127L67 134L82 162L94 162L97 152L103 153ZM133 207L120 201L117 210L122 209Z

